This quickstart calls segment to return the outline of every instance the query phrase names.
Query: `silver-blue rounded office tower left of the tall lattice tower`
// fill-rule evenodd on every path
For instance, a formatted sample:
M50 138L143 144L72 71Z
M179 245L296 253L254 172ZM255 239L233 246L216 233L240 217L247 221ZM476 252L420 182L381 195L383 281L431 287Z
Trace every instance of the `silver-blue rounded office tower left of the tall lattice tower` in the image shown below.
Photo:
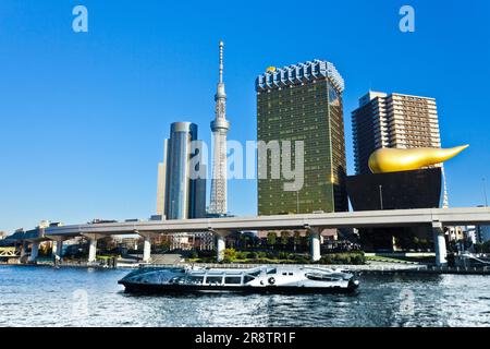
M198 177L205 171L200 149L195 123L172 123L170 139L164 141L163 163L158 167L158 215L167 219L206 216L206 179Z

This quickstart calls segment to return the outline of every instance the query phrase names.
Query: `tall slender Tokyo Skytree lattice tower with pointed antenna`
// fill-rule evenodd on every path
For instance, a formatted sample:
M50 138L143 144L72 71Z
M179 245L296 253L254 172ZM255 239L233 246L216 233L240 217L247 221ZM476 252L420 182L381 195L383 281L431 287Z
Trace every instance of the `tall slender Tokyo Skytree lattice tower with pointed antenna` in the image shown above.
M220 80L215 95L216 117L211 122L213 137L210 214L226 214L226 94L223 83L223 41L220 41Z

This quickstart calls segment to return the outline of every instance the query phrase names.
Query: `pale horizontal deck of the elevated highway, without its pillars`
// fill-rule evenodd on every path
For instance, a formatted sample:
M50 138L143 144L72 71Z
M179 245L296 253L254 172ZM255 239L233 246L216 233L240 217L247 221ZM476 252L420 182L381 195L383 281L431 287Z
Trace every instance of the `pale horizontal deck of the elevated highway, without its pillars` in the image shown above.
M207 219L149 220L111 224L88 224L45 229L46 237L83 233L125 234L135 232L199 232L232 230L279 230L311 228L408 227L440 222L443 226L490 224L490 208L429 208L372 212L347 212L309 215L226 217Z

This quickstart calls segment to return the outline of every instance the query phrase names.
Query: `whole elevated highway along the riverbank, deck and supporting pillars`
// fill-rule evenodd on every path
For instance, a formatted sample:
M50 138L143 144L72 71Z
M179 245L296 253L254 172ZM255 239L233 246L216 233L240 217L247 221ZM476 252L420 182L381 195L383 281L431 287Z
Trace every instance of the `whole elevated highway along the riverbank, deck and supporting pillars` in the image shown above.
M205 219L147 220L108 224L84 224L39 229L39 241L50 239L62 243L73 237L89 239L89 262L96 260L97 240L111 234L138 233L145 238L144 261L150 258L150 238L154 234L210 231L217 238L218 261L222 260L224 237L236 230L287 230L307 229L310 232L311 260L320 258L319 234L326 228L380 228L380 227L431 227L434 237L436 262L445 264L445 239L443 227L490 225L490 208L422 208L373 212L347 212L308 215L279 215L258 217L226 217ZM36 239L30 237L30 242Z

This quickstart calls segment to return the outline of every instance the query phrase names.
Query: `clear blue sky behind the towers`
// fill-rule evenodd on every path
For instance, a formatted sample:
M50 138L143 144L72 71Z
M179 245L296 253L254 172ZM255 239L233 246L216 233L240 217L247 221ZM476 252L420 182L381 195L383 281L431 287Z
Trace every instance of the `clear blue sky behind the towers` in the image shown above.
M83 4L88 33L72 31ZM399 10L416 11L415 33ZM209 142L217 46L225 41L229 139L256 137L254 81L269 65L315 58L346 82L344 118L369 87L436 97L450 203L483 203L490 181L490 2L96 1L0 3L0 230L41 219L146 218L173 121ZM256 214L256 183L233 180L229 208Z

